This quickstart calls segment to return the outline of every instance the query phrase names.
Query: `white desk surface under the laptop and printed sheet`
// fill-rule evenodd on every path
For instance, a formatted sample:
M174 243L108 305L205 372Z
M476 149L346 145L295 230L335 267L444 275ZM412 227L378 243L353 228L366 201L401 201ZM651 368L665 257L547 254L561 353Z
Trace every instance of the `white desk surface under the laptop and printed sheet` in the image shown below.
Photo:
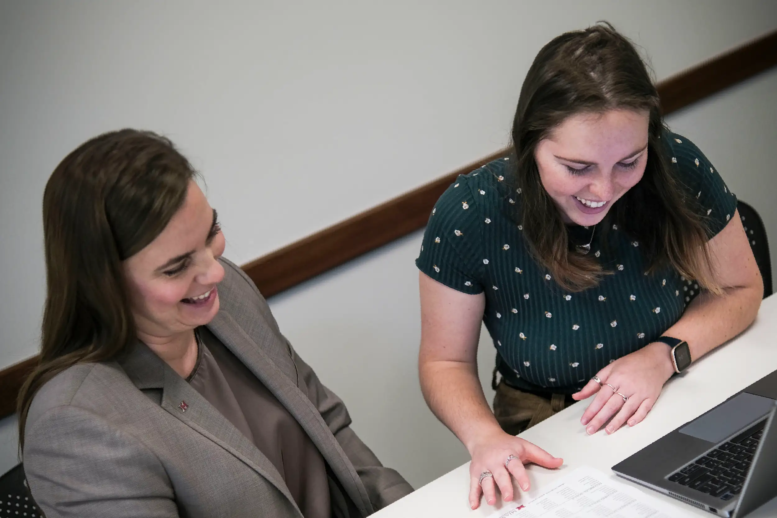
M570 473L574 468L588 465L611 474L618 481L632 484L644 492L675 502L687 513L698 516L714 516L688 504L678 502L648 488L626 481L611 471L611 467L636 453L678 426L702 415L726 398L777 370L777 294L761 304L758 318L747 331L725 346L693 363L681 376L674 377L664 387L653 410L639 425L626 426L608 436L600 431L588 436L580 424L586 402L572 405L552 418L521 433L521 437L548 450L556 457L563 457L561 468L551 471L535 465L527 466L531 489L528 498L542 493L556 478ZM498 492L497 492L498 494ZM516 489L516 495L521 495ZM474 518L488 516L499 506L489 506L481 500L479 509L469 509L469 463L447 475L419 488L416 492L394 502L375 513L376 518L400 516L445 516ZM497 497L498 498L498 497ZM517 496L517 498L519 498ZM750 515L751 518L777 516L777 499L768 502ZM748 517L749 518L749 517Z

